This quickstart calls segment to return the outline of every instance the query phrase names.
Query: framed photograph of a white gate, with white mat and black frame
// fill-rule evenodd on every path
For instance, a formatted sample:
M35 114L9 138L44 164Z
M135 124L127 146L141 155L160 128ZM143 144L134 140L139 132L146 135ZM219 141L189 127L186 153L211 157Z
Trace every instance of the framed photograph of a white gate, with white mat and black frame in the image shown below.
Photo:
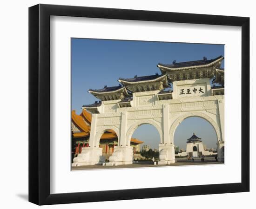
M249 18L29 8L30 202L245 191Z

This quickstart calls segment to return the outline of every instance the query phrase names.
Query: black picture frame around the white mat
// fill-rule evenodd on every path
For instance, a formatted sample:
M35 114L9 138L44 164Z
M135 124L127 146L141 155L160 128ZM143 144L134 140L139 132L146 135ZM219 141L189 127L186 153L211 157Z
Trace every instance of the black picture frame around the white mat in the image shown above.
M50 16L242 27L241 183L50 194ZM39 4L29 8L29 202L99 202L249 191L249 18Z

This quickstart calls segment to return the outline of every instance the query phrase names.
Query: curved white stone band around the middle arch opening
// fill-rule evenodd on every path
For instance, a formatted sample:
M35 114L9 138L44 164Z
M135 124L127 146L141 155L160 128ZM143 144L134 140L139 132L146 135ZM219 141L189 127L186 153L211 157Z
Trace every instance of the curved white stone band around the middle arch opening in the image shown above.
M150 119L145 119L145 120L139 120L139 121L135 121L134 124L132 124L130 127L128 127L128 131L126 133L126 139L125 139L125 142L126 144L130 144L131 142L131 137L134 133L134 131L141 125L143 124L150 124L150 125L153 125L156 130L158 131L159 133L159 136L160 136L160 142L163 143L163 130L162 130L162 125L159 125L157 124L155 121L153 120L150 120Z

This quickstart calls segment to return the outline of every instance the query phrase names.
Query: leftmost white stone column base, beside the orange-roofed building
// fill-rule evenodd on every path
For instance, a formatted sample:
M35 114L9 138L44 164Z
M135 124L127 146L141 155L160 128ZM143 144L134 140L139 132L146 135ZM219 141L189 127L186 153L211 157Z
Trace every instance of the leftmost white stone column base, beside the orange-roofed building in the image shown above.
M72 166L95 165L105 162L102 156L102 148L83 147L82 152L74 157Z

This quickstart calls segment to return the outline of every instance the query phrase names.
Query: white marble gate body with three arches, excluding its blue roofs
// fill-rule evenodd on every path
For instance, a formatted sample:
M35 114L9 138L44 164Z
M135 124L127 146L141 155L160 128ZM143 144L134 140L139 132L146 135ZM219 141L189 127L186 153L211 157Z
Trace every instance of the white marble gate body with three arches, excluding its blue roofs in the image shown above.
M202 95L180 95L180 89L203 88ZM200 117L208 121L216 131L218 159L224 160L224 96L213 95L209 79L193 79L173 83L171 98L163 98L159 90L134 92L130 101L102 101L97 113L92 114L88 148L74 159L74 165L102 163L101 135L115 131L118 145L106 165L131 164L133 148L130 146L134 131L142 124L153 125L160 135L158 164L175 163L174 133L186 118ZM124 104L125 105L124 105ZM103 159L103 158L102 158Z

